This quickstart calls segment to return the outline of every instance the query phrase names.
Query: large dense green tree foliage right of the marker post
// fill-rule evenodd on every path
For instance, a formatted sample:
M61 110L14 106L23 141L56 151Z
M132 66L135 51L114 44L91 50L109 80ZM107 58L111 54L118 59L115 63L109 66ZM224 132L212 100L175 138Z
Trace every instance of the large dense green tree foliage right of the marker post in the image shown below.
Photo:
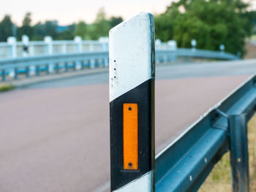
M156 17L156 37L175 39L178 47L191 47L244 54L245 38L252 31L253 15L246 15L247 4L241 0L180 0ZM251 18L249 19L249 16Z

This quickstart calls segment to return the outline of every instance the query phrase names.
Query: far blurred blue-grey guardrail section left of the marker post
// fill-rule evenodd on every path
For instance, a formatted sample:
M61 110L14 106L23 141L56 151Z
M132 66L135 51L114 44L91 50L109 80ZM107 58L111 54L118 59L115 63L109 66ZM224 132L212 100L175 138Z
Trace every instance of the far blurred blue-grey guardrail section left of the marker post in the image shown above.
M39 76L42 71L45 71L46 74L53 71L59 73L60 69L68 72L69 68L77 70L84 69L86 66L89 68L108 66L108 52L45 55L0 60L0 74L2 81L6 80L7 74L17 80L20 73L25 73L26 77L31 74Z

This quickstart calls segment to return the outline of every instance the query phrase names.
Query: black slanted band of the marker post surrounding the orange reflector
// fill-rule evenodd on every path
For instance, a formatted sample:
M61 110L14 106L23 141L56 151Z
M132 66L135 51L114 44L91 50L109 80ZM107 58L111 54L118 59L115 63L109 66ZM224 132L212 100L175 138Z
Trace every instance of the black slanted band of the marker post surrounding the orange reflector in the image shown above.
M138 170L123 169L123 103L138 103ZM154 170L154 79L110 102L111 191Z

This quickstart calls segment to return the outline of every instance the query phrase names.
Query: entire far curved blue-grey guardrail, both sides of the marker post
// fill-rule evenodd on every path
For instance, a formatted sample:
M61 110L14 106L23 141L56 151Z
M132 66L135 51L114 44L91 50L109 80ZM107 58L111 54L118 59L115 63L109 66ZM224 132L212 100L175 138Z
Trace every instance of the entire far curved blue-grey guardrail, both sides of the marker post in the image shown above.
M236 55L211 50L193 50L178 48L176 50L156 50L157 64L175 61L177 57L193 58L215 58L223 60L238 60ZM52 72L59 73L60 69L68 72L69 68L84 69L85 66L94 68L98 66L108 66L108 51L96 51L89 53L69 53L59 55L42 55L23 58L11 58L0 60L1 80L5 81L7 75L18 79L18 74L24 73L26 77L31 74L37 76L40 72L46 74Z

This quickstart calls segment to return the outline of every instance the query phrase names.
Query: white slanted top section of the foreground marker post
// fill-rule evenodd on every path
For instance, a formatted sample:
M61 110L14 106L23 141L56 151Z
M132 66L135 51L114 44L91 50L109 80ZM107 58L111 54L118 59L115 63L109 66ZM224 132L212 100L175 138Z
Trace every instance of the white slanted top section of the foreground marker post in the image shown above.
M109 33L110 101L154 77L154 17L141 12Z

